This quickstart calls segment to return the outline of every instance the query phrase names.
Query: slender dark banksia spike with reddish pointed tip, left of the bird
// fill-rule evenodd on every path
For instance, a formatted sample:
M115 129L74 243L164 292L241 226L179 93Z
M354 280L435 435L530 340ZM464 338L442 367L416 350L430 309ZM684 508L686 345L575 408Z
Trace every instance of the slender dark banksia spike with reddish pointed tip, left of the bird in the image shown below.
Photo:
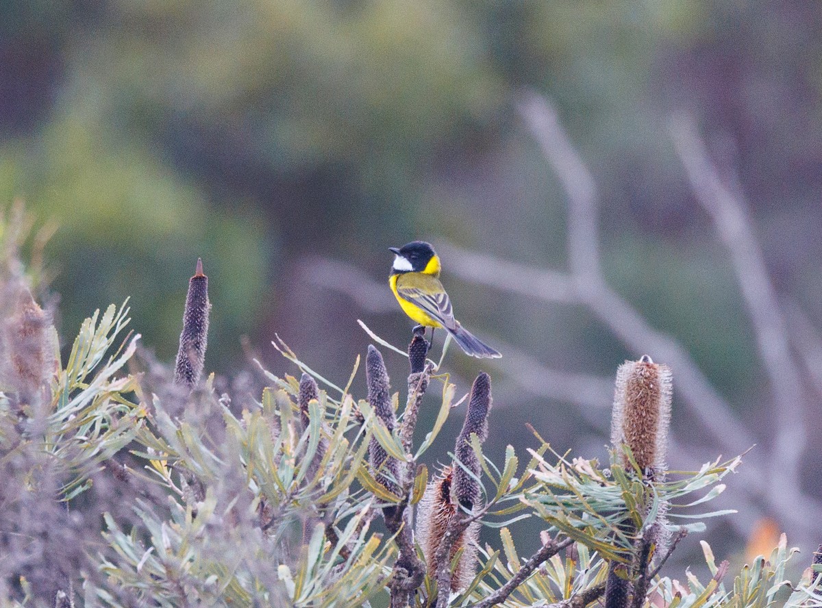
M182 316L182 334L174 366L174 384L192 388L200 380L205 365L208 339L208 277L203 274L202 260L197 259L196 272L188 282L186 311Z

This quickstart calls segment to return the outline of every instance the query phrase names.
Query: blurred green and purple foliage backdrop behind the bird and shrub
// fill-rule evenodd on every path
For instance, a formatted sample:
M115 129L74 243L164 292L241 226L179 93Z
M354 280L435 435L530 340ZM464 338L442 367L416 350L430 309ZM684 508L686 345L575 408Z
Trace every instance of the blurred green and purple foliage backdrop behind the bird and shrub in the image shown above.
M372 307L323 288L314 260L382 282L386 247L424 238L565 267L564 194L514 108L530 87L598 180L607 277L757 415L750 323L666 121L695 113L740 174L778 291L822 319L820 28L813 0L2 0L0 201L59 227L61 334L131 296L170 361L201 256L207 367L244 366L247 334L276 369L277 332L344 383L368 341L356 319L399 344L409 323L387 288ZM444 279L466 325L552 368L608 376L641 354L585 311L461 283L448 260ZM531 421L557 449L604 456L601 430L506 382L492 428L510 434L490 453Z

